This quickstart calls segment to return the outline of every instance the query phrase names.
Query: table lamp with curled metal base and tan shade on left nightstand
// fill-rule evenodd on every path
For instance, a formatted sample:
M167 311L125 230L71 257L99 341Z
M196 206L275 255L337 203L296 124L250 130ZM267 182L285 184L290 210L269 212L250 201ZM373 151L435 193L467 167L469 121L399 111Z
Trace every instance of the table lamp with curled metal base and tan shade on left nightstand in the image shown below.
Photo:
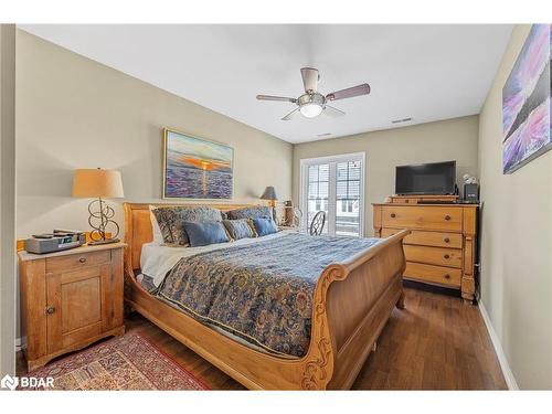
M118 199L125 197L123 192L123 180L120 172L116 170L78 169L73 174L73 197L81 199L97 199L88 204L88 224L93 229L91 232L92 242L88 244L116 243L119 234L119 225L113 221L115 211L103 200ZM114 234L106 237L106 227L112 225Z

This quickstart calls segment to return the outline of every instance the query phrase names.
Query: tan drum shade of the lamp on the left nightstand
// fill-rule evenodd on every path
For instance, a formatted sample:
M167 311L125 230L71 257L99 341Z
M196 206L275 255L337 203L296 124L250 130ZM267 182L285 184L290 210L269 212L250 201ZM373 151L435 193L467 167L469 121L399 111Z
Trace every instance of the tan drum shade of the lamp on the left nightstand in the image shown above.
M117 170L83 169L73 174L73 197L83 199L125 197L123 180Z

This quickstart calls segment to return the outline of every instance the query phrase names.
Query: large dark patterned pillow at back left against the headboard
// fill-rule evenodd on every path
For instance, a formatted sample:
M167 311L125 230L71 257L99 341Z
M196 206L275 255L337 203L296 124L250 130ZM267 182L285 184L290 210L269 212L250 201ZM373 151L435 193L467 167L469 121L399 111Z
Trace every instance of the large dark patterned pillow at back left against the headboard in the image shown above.
M200 206L166 206L153 210L159 229L167 244L185 246L189 244L183 222L220 222L221 211L208 205ZM170 233L170 234L169 234Z

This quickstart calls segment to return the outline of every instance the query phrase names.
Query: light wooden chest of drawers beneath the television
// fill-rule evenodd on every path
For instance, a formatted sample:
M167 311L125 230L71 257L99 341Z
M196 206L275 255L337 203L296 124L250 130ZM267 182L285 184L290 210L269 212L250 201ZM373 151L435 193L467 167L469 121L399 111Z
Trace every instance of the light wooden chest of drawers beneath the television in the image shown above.
M404 240L404 278L461 290L466 301L475 295L477 204L418 204L414 197L372 204L376 237L388 237L402 229L412 234Z

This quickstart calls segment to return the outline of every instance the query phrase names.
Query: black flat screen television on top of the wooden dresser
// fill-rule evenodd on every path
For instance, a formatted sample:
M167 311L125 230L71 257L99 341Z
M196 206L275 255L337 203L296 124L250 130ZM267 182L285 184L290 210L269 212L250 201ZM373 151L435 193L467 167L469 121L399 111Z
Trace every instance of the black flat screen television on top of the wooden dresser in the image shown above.
M396 194L454 194L456 161L400 166L395 172Z

